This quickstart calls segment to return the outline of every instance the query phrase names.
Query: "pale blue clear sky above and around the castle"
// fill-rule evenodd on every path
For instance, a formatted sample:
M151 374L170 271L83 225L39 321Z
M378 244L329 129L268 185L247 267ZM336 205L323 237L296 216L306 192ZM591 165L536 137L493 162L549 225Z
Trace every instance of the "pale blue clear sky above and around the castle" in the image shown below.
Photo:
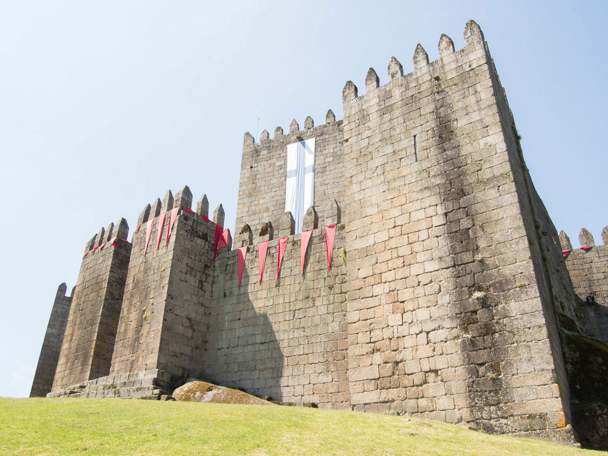
M421 6L424 4L424 6ZM86 241L168 188L207 193L233 227L243 133L387 82L417 43L480 24L553 221L601 243L608 2L13 1L0 7L0 395L27 396L57 286Z

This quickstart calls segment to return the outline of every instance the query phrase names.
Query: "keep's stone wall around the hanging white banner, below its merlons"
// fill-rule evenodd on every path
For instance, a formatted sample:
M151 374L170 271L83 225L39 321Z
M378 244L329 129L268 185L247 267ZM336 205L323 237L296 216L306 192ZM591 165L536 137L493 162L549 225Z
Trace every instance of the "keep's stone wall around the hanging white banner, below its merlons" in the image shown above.
M312 137L316 138L314 206L320 221L328 218L333 210L331 202L336 199L341 205L344 199L342 136L339 121L244 145L236 233L249 224L255 238L267 221L271 221L275 231L278 229L285 214L287 145ZM235 244L241 246L236 233Z

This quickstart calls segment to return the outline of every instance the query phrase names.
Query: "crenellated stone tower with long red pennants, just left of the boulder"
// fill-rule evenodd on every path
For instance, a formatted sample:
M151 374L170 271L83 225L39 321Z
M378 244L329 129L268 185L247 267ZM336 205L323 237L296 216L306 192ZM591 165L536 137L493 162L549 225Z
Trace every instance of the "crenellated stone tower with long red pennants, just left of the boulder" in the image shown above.
M168 389L172 379L198 376L201 370L216 223L201 216L207 216L206 197L199 202L205 213L192 212L191 204L188 187L175 199L167 192L162 202L143 210L140 229L133 235L110 371L117 378L149 379L140 390L128 393L132 396L151 395L152 384ZM223 223L221 205L219 209L216 221Z

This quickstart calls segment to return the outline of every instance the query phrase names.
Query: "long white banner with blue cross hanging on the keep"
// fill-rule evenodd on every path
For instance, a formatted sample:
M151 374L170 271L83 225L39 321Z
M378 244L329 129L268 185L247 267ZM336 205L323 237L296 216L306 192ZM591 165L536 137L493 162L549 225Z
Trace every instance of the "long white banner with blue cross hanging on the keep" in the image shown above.
M304 212L314 206L314 138L287 145L285 212L295 220L295 232L302 232Z

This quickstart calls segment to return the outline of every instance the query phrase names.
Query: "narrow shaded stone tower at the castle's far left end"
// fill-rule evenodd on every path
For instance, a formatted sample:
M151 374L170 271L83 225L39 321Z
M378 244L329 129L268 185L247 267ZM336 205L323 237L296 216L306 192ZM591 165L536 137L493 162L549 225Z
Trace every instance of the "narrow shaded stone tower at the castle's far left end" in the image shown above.
M53 386L55 370L57 370L57 362L59 361L59 352L61 351L61 342L63 342L63 335L66 330L67 316L72 305L72 296L64 295L65 291L65 284L63 284L57 291L57 296L50 312L49 324L44 334L30 398L46 396L47 393L50 393Z

